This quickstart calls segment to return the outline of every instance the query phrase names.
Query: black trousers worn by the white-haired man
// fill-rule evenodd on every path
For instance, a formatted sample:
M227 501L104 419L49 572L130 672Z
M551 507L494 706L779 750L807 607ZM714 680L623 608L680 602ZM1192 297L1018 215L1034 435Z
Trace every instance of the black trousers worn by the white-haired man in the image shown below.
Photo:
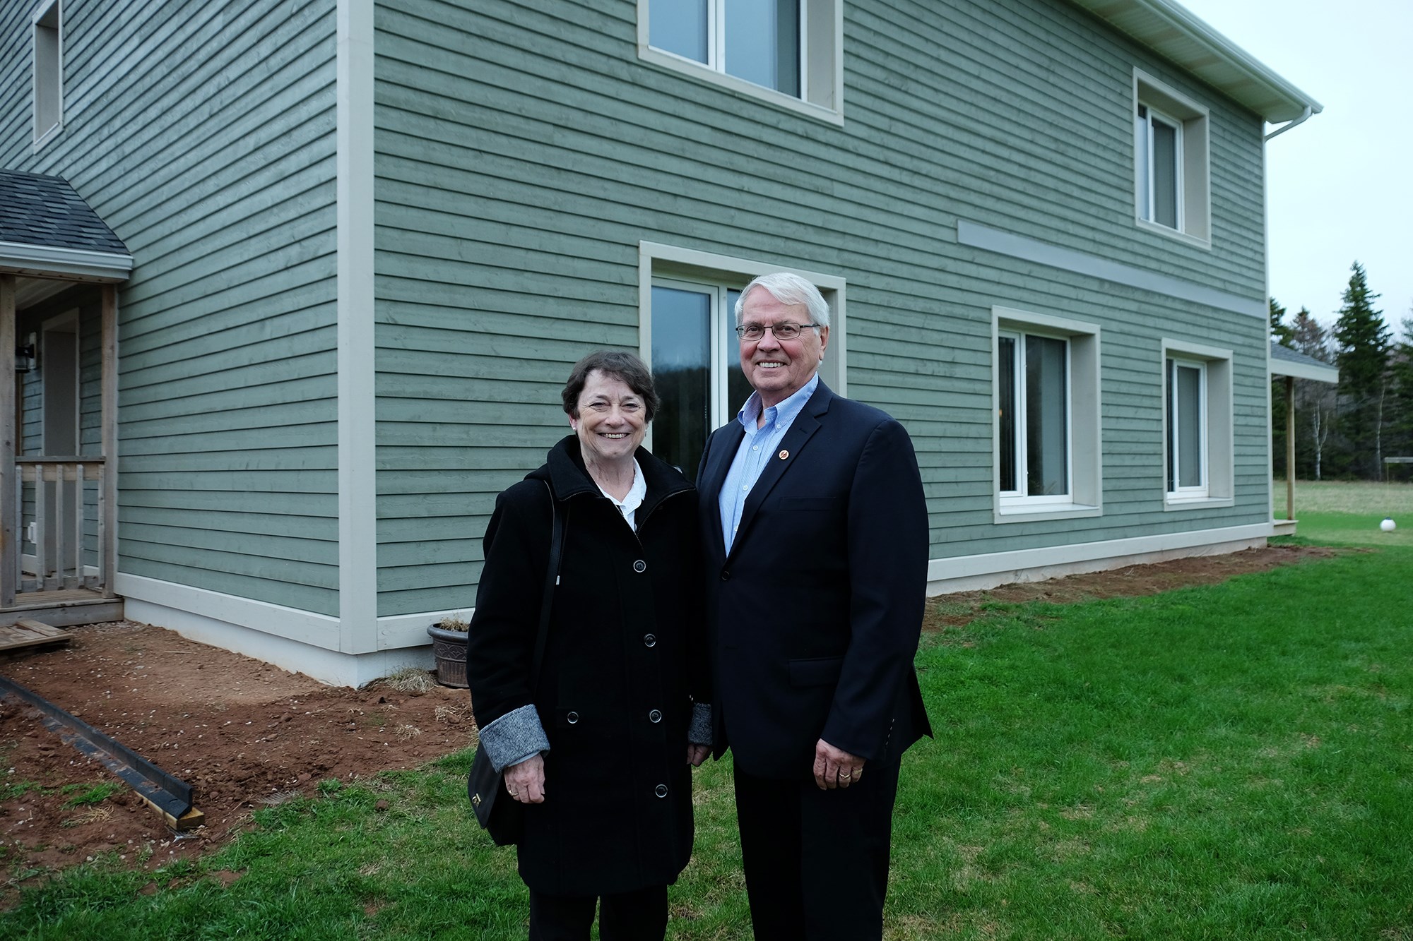
M897 769L863 767L858 784L774 780L736 767L736 819L756 941L883 937Z

